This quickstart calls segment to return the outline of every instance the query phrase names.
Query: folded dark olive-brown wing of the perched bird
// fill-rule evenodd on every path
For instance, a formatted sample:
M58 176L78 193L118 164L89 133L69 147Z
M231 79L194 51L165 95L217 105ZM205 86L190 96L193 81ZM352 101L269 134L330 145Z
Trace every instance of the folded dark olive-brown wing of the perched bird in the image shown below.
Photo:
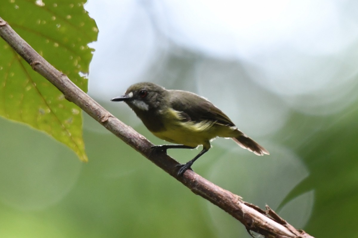
M212 121L222 125L235 126L219 108L211 102L192 92L172 90L170 93L171 107L181 112L186 121Z

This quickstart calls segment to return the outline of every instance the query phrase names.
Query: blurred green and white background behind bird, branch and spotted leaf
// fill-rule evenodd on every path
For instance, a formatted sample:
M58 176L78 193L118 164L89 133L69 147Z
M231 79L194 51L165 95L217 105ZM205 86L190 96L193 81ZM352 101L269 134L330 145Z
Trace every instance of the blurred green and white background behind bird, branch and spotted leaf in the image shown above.
M43 0L45 2L45 0ZM209 98L270 156L219 138L193 169L314 237L357 237L358 2L89 0L89 94L150 81ZM0 118L0 237L250 237L84 116L89 162ZM199 150L171 150L187 162Z

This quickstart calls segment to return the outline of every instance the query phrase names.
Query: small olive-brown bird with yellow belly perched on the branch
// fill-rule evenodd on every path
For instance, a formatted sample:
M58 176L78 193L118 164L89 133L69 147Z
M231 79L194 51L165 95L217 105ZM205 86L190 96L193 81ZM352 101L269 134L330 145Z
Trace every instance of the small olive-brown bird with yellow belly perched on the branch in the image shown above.
M232 138L239 146L256 155L270 155L269 151L246 136L219 108L207 99L188 91L166 90L150 82L135 83L123 96L111 101L124 101L156 137L180 145L156 146L203 150L186 164L180 164L177 175L191 169L193 163L207 152L216 137Z

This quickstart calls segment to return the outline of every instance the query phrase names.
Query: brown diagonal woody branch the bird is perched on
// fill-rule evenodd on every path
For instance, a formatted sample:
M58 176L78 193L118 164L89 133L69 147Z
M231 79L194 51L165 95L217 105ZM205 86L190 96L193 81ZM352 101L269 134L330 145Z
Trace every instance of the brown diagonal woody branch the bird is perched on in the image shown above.
M295 229L269 207L263 211L257 206L244 202L240 196L213 184L191 170L187 170L183 176L176 177L175 167L179 164L178 162L166 153L153 150L154 145L150 141L118 120L77 87L66 75L50 65L1 17L0 36L32 66L33 70L57 87L68 101L81 107L107 130L183 183L193 193L207 199L239 220L248 232L257 232L267 238L314 238L304 231Z

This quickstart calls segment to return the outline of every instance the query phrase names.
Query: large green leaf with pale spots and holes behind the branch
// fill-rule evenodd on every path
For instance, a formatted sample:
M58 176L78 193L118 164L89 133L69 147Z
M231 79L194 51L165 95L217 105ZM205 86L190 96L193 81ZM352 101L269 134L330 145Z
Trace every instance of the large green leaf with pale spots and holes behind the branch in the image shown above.
M80 0L8 0L0 16L83 91L98 29ZM82 111L0 39L0 115L48 133L87 161Z

